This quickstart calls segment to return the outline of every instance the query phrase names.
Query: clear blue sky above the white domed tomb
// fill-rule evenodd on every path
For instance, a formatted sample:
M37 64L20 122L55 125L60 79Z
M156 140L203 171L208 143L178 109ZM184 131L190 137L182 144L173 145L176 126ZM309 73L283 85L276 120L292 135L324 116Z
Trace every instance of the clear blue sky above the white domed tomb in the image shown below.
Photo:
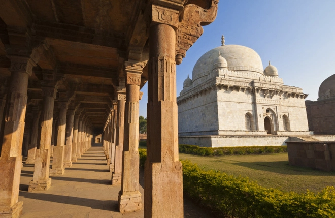
M335 74L335 0L220 0L215 21L177 66L177 96L199 57L221 46L222 35L226 45L255 50L263 68L270 60L285 85L309 94L306 100L316 101L322 81ZM147 84L141 91L146 117Z

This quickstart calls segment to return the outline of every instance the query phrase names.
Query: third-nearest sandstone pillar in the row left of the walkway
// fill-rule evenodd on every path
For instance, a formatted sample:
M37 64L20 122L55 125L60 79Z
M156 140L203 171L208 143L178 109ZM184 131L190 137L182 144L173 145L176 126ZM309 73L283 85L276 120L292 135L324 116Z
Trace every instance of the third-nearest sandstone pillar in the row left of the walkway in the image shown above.
M66 112L68 111L68 102L58 102L58 133L57 133L57 146L53 148L52 169L49 176L63 175L64 168L64 144L66 133Z

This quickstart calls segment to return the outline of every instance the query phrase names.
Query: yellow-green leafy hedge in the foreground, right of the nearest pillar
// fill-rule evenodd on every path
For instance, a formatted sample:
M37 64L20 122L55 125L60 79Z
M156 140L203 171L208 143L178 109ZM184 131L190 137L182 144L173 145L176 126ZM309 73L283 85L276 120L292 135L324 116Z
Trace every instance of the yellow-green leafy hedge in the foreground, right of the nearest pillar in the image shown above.
M144 166L146 149L139 149ZM303 218L335 217L335 188L306 194L267 189L248 178L205 171L190 161L183 164L183 190L218 217Z

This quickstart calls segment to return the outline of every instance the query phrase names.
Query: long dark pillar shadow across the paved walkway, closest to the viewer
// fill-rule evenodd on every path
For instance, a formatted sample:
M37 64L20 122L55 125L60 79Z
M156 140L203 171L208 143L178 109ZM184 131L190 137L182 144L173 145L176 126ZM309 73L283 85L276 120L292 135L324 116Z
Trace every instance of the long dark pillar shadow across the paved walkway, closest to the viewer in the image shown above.
M108 210L113 212L117 211L117 201L113 200L95 200L89 198L78 198L78 197L71 197L71 196L62 196L62 195L52 195L46 193L33 193L33 192L22 192L20 191L19 196L24 198L42 200L42 201L50 201L55 203L61 204L72 204L84 207L90 207L92 209L101 209L101 210Z

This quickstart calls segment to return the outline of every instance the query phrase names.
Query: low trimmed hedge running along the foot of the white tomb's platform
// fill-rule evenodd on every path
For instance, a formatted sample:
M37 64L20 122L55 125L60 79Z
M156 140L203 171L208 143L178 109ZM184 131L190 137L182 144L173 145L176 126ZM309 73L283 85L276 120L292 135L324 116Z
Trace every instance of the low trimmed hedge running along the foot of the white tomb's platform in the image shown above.
M199 147L196 145L179 145L179 152L200 156L244 155L284 153L287 146L241 146L241 147Z

